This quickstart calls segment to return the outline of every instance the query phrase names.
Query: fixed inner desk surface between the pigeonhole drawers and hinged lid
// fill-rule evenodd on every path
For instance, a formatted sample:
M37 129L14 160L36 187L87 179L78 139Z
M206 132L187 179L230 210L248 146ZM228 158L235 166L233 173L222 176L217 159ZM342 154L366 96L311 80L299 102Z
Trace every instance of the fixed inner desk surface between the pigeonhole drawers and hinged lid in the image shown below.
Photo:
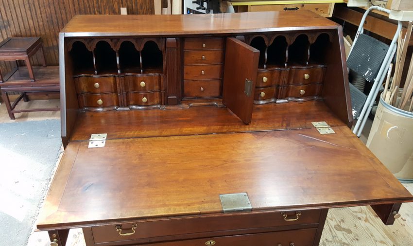
M311 122L318 121L343 125L322 101L253 105L252 111L250 124L242 123L227 108L211 105L185 110L158 109L150 113L145 110L81 112L70 140L89 140L90 134L100 132L107 133L108 139L118 139L313 128Z

